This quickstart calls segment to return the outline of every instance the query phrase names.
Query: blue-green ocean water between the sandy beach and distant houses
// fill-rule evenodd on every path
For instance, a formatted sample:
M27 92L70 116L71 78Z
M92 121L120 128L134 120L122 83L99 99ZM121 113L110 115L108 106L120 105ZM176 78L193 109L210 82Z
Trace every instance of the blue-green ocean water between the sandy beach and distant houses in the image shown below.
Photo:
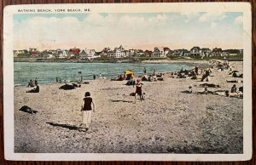
M156 72L178 71L191 69L189 65L177 64L144 64L144 63L47 63L47 62L15 62L15 85L26 85L31 79L38 78L39 84L55 83L56 77L61 80L78 81L93 79L93 75L99 78L99 74L107 78L114 78L128 69L135 72L135 75L143 75L143 68L148 74ZM79 73L80 71L80 73Z

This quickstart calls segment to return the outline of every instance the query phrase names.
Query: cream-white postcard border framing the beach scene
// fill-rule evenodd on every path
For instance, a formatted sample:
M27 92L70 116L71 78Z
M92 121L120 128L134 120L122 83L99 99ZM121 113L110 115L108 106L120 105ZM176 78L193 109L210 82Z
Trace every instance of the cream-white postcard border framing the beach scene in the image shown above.
M14 151L14 60L13 14L18 9L90 9L92 13L142 12L243 12L244 98L243 154L113 154L113 153L15 153ZM37 14L40 12L37 12ZM41 12L42 14L44 12ZM4 8L3 17L3 116L4 154L7 160L22 161L243 161L252 156L252 14L250 3L118 3L33 4ZM29 14L29 13L26 13Z

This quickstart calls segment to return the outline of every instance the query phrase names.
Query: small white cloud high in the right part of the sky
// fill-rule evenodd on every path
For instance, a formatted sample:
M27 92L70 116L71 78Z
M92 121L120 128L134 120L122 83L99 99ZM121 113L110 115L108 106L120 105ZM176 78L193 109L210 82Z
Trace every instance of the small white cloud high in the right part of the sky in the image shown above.
M207 22L207 21L215 21L215 20L224 20L226 15L223 12L214 12L214 13L205 13L202 14L201 17L198 19L200 22Z

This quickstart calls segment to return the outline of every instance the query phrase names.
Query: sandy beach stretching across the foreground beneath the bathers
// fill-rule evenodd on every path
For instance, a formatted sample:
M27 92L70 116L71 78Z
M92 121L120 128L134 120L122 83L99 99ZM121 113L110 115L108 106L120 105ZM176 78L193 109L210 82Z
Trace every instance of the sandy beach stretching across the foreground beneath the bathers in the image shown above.
M242 72L242 62L230 62ZM143 68L142 68L143 69ZM242 80L230 71L212 69L210 82L230 90L226 80ZM135 103L126 81L86 81L81 88L40 85L40 93L15 87L15 152L36 153L229 153L243 151L243 100L204 91L200 79L172 78L143 82L145 100ZM183 93L193 87L192 94ZM87 131L79 128L84 93L96 104ZM19 111L27 105L38 111Z

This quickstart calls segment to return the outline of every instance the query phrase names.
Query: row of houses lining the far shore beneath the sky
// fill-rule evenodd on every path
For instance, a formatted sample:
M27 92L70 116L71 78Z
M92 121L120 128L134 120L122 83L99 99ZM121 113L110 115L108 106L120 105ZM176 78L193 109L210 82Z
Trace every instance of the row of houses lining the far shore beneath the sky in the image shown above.
M227 49L222 50L222 48L200 48L193 47L190 50L174 49L171 50L167 47L155 47L153 51L142 49L125 49L122 45L117 48L103 48L101 52L96 52L95 49L80 49L80 48L70 48L67 49L47 49L39 52L37 48L29 48L27 51L24 50L14 50L14 55L17 57L19 54L28 54L30 57L43 57L47 59L81 59L81 60L91 60L97 57L108 57L108 58L125 58L125 57L153 57L153 58L166 58L170 56L198 56L198 57L211 57L211 56L226 56L242 54L242 49Z

